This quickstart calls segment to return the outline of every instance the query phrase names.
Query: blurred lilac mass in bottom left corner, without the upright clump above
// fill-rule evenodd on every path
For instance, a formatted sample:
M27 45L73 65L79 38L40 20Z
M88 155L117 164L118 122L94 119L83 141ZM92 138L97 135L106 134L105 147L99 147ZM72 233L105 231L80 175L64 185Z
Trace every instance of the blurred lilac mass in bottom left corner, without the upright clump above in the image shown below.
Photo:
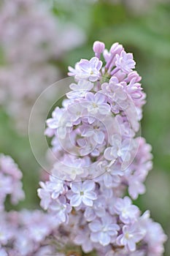
M53 246L46 240L52 233L52 219L42 211L9 211L1 214L1 256L47 255Z

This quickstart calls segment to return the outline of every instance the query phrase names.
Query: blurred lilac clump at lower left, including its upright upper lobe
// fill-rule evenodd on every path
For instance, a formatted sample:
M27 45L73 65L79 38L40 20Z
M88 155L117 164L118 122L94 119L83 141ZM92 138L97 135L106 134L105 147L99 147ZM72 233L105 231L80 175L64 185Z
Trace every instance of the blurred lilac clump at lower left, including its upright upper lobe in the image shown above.
M12 205L23 200L22 173L14 160L0 155L0 255L47 256L54 255L51 236L58 223L42 211L6 211L4 203L10 196Z

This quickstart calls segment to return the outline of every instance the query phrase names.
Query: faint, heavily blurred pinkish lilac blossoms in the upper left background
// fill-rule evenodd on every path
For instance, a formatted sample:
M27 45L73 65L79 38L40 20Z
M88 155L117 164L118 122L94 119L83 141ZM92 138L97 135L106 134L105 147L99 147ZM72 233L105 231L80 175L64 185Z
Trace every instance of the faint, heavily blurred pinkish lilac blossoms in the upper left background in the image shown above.
M25 132L36 98L61 78L52 63L84 42L85 35L74 24L61 23L45 1L9 0L0 5L0 105Z

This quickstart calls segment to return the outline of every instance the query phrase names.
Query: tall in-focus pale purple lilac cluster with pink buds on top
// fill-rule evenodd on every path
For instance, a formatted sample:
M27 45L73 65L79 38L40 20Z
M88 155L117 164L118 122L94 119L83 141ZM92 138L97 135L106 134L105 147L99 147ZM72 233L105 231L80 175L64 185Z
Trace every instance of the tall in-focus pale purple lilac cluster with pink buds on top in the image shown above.
M144 193L152 168L150 145L136 137L145 102L141 78L133 55L117 42L110 50L94 42L93 51L90 61L69 67L72 91L47 119L56 161L40 183L41 206L82 252L161 256L161 225L131 201Z

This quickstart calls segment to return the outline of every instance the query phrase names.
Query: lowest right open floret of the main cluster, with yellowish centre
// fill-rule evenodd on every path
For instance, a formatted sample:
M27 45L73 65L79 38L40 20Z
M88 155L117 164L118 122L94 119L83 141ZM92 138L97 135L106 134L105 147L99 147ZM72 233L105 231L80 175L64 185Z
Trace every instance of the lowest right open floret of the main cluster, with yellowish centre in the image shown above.
M143 233L140 232L136 223L132 225L123 226L123 233L117 237L117 244L125 246L128 252L134 252L136 250L136 243L142 240Z

